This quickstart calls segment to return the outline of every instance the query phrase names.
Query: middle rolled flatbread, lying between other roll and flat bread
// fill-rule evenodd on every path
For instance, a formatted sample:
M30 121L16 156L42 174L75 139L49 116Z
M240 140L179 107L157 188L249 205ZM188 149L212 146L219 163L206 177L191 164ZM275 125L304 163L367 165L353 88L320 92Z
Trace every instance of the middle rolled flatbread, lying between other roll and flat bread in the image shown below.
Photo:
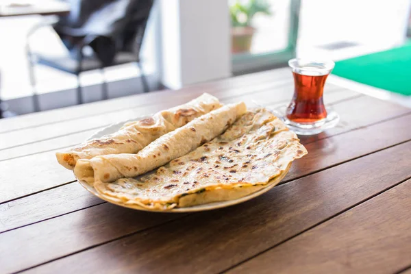
M101 155L78 160L74 173L77 179L89 184L114 182L147 173L219 136L246 111L245 103L224 105L161 136L137 154Z

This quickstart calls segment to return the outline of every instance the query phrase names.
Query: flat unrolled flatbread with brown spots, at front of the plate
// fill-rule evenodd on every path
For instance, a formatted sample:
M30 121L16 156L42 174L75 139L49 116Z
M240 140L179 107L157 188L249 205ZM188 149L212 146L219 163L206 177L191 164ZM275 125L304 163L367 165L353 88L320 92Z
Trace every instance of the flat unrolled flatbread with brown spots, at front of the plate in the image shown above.
M125 206L184 208L277 184L306 153L281 120L265 109L251 110L221 136L150 174L94 187L103 199Z

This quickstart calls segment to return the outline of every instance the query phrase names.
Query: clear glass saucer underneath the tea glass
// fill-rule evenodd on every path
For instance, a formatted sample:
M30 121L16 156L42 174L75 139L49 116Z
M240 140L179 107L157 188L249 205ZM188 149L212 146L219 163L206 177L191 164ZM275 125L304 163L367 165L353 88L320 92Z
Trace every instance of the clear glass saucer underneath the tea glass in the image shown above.
M287 119L286 110L288 105L282 105L278 108L269 109L279 119L282 119L289 129L295 132L297 135L315 135L320 134L325 129L335 127L340 121L340 116L335 112L330 105L325 105L327 110L327 118L316 121L312 124L295 123Z

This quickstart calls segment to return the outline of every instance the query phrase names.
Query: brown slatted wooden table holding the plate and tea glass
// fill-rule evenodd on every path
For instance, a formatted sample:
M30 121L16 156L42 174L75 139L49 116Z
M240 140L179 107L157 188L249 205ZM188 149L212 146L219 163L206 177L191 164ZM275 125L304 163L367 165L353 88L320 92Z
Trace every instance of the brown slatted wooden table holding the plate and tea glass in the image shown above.
M238 206L155 214L90 195L55 160L110 123L210 92L286 103L288 69L0 121L0 272L398 273L411 266L411 109L327 84L338 127Z

